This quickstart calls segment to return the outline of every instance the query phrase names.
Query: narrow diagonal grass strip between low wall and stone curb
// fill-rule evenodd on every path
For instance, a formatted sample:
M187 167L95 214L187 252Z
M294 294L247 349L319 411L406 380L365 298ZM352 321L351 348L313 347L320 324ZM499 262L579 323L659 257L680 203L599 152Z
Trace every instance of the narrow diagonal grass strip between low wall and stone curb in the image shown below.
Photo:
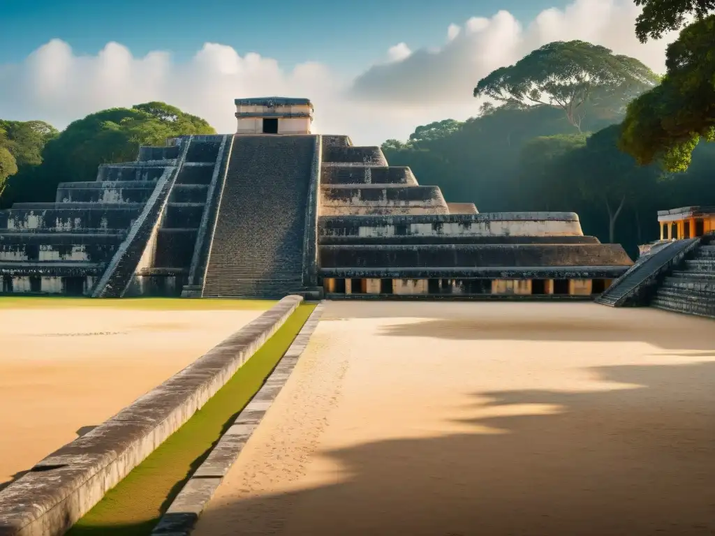
M69 536L148 536L235 416L250 402L315 309L300 304L204 407L71 528Z

